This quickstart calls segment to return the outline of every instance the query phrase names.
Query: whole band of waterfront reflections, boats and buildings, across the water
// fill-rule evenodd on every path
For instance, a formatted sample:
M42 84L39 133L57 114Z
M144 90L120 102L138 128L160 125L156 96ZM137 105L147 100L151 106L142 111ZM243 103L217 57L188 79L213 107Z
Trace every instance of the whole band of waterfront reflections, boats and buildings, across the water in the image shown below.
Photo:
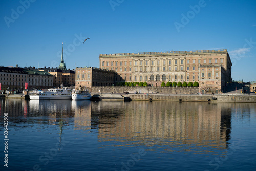
M206 151L227 148L231 134L231 113L232 118L242 113L242 119L249 120L250 110L255 111L255 105L88 100L0 101L1 115L8 111L14 126L58 125L60 143L65 126L74 126L75 130L96 132L99 142L155 144L189 151L198 151L199 146Z

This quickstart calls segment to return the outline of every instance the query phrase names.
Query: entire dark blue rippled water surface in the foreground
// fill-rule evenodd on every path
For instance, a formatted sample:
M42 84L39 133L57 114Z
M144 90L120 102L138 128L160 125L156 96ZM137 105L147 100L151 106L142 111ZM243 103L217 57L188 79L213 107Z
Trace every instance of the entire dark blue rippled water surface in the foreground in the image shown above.
M256 104L0 101L1 170L256 170Z

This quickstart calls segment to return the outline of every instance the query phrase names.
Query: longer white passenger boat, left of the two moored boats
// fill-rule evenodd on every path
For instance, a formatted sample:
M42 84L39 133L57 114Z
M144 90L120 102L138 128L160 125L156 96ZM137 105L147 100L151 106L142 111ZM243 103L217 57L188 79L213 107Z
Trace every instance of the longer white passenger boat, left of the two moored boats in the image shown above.
M36 90L29 94L30 100L59 100L71 99L71 89L48 89L47 91Z

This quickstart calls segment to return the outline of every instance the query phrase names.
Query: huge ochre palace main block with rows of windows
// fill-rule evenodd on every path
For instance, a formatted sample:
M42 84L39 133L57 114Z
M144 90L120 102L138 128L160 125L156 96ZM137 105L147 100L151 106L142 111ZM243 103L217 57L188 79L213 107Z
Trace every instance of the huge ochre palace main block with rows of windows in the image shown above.
M223 50L100 54L100 68L114 70L115 82L199 82L200 92L222 91L231 83L229 54Z

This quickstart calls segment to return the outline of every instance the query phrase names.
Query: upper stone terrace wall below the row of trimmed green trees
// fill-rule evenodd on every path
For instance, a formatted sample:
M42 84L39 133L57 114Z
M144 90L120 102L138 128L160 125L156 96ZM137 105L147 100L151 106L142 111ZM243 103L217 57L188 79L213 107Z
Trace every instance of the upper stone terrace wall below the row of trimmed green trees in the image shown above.
M198 87L127 87L127 86L93 86L92 93L169 93L169 94L197 94Z

